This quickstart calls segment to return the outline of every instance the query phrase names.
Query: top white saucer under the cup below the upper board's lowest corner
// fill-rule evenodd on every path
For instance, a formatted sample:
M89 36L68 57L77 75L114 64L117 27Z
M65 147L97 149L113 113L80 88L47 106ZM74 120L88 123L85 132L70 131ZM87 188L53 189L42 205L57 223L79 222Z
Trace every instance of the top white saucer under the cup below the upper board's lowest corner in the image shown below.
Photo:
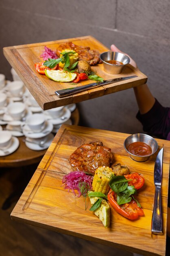
M22 132L26 137L37 139L41 137L45 137L48 135L50 132L52 132L53 129L53 124L51 124L49 121L46 121L46 126L41 132L33 132L28 125L25 125L22 129ZM48 131L48 132L46 132Z

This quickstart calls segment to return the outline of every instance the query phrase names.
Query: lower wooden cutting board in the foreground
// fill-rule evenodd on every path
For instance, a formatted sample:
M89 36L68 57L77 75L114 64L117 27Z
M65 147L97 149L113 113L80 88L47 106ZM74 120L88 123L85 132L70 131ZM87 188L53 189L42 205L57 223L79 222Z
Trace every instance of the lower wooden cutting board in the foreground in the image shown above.
M129 134L62 125L48 148L35 174L11 213L11 218L63 234L77 236L105 245L119 247L142 255L165 255L168 178L170 167L170 141L157 139L163 153L162 207L163 235L151 234L155 186L153 171L157 153L146 162L135 162L124 150L124 139ZM62 178L71 171L68 162L72 152L83 143L101 140L114 153L115 163L129 166L131 172L141 173L145 179L137 200L144 209L144 216L131 221L111 209L111 225L102 222L87 210L82 198L68 193ZM158 152L157 151L157 152Z

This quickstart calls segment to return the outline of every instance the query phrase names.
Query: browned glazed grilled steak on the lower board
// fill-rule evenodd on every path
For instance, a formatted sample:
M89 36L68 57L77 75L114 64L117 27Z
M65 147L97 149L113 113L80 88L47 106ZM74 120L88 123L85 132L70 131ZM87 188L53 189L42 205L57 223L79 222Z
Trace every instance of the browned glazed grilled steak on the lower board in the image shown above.
M74 171L94 174L99 166L110 166L113 161L111 149L101 141L83 144L70 155L69 162Z

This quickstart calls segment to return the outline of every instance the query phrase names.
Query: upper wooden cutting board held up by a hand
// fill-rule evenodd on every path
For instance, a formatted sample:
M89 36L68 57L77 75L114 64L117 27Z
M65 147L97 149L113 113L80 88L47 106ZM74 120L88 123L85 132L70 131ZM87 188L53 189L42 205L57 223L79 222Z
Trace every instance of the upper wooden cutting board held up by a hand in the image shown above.
M43 110L78 103L88 99L94 99L96 97L101 97L106 94L126 90L137 85L144 84L147 81L147 76L142 74L142 72L140 72L138 69L132 67L130 64L127 65L123 72L118 75L106 73L103 70L103 65L98 64L92 66L92 70L96 71L98 76L101 76L105 80L131 75L137 75L137 77L59 98L57 94L55 94L56 90L75 87L76 85L70 85L70 83L58 83L48 79L48 77L45 75L41 75L36 72L34 63L42 61L40 55L44 51L44 46L56 51L58 45L64 42L73 42L76 45L89 46L90 49L96 49L100 53L110 50L92 36L83 36L29 45L17 45L4 47L3 49L4 56L15 69ZM89 83L94 83L94 81L87 79L82 81L82 83L78 83L77 86Z

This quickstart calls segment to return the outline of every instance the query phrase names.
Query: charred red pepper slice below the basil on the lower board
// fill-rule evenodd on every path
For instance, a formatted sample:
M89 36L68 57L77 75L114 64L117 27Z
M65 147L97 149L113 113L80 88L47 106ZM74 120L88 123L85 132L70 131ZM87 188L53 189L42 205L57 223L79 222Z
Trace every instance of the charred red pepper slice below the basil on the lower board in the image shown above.
M107 199L115 211L129 220L136 220L139 216L144 216L144 211L137 205L134 199L129 203L119 205L116 200L116 193L112 190L109 191Z

